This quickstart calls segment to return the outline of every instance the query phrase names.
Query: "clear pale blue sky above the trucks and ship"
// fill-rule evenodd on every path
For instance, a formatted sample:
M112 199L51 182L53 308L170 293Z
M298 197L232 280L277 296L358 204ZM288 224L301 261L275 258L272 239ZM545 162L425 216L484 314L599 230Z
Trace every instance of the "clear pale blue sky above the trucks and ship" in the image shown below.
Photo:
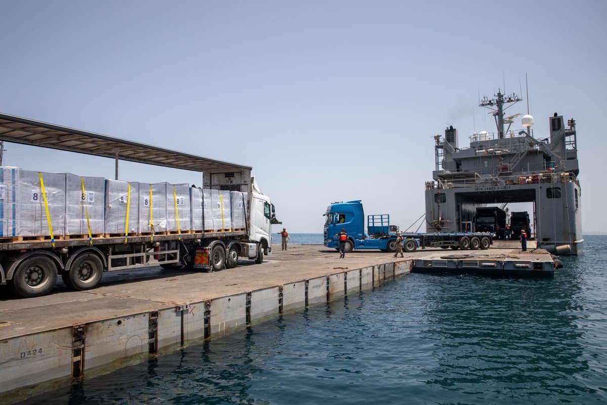
M412 225L433 136L495 132L478 103L500 89L537 138L575 118L583 231L607 231L605 19L603 0L0 0L0 112L252 166L288 231L322 233L347 200ZM4 165L114 178L112 159L5 149ZM202 183L128 162L120 179Z

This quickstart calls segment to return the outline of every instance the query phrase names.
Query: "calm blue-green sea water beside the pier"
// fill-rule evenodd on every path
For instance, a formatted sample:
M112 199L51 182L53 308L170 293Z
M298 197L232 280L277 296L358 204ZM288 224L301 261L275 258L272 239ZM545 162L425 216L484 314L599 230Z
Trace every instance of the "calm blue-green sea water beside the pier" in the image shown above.
M554 278L409 274L27 403L605 403L607 236L585 239Z

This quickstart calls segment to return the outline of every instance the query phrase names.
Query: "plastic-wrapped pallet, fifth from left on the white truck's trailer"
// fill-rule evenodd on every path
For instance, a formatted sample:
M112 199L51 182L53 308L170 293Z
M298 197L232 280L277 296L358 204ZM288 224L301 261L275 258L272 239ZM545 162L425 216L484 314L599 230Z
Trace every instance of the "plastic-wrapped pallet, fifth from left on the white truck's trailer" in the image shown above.
M138 233L152 233L152 227L149 226L151 223L154 224L155 233L168 230L166 213L166 184L167 183L139 183ZM152 207L151 216L150 207Z

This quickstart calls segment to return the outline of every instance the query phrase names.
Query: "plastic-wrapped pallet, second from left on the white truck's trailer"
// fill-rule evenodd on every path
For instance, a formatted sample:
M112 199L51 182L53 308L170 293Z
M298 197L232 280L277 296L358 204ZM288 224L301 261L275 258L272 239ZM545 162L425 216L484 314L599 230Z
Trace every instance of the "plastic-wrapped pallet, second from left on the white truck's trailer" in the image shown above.
M42 196L42 183L46 203ZM66 175L19 170L19 236L63 236L66 226ZM47 216L47 209L49 216ZM49 226L50 222L50 226Z

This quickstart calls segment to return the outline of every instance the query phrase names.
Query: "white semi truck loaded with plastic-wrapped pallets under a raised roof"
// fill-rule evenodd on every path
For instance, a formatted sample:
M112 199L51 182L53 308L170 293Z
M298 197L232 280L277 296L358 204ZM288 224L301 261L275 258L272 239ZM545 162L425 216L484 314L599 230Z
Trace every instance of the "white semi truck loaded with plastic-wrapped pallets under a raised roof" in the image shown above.
M60 228L61 231L58 233L53 233L58 226L56 223L62 219L55 219L55 224L51 225L52 210L49 210L49 200L53 194L49 189L44 189L45 174L38 173L39 183L36 182L35 185L24 183L22 180L19 183L19 179L13 179L13 184L11 184L11 179L4 175L8 172L6 168L0 168L0 172L3 174L0 179L0 203L2 204L0 207L0 229L2 230L0 233L0 282L6 282L8 287L19 296L30 298L49 293L55 287L58 276L61 276L64 284L73 290L89 290L97 286L104 271L157 265L163 268L186 267L193 270L213 271L236 267L239 257L251 259L260 264L263 262L263 256L271 253L271 225L280 222L276 220L270 198L259 190L254 177L251 177L251 168L248 166L221 162L7 114L0 114L0 140L114 158L116 179L118 179L118 162L120 160L202 172L205 191L236 192L244 205L244 209L241 211L243 218L240 227L231 227L229 219L227 224L223 221L221 226L217 226L216 222L215 226L208 226L204 218L194 217L204 216L206 206L211 203L221 209L223 216L223 206L216 203L215 200L203 198L203 189L191 186L194 191L197 189L197 193L189 191L191 193L188 196L189 203L192 207L200 205L199 211L196 211L199 214L192 214L188 219L189 224L186 224L185 218L182 217L181 225L177 215L177 228L172 228L172 230L171 228L166 228L165 231L158 231L158 228L155 230L153 225L158 218L151 218L151 226L146 229L147 232L134 230L132 223L129 226L127 220L127 226L120 228L119 232L108 231L106 225L103 233L92 233L89 208L86 208L82 211L83 213L86 211L84 232L70 234L66 232L66 225L64 228ZM81 181L82 199L83 202L86 202L91 193L86 189L89 186L85 186L84 180ZM106 194L107 181L118 180L106 180ZM18 206L19 201L14 199L10 201L11 189L13 189L13 195L17 194L18 192L15 190L19 186L32 188L32 190L25 191L31 192L32 195L27 203L39 204L35 208L41 218L36 220L44 225L42 228L46 226L46 232L42 230L35 234L19 233L20 229L25 229L23 224L33 220L31 217L33 214L30 211ZM152 190L152 187L149 189ZM172 190L174 189L172 188ZM168 211L173 208L174 203L174 213L178 213L182 208L178 208L178 204L183 203L183 199L171 191L170 185L167 190L167 198L164 199L164 203L168 206ZM145 201L147 204L146 193L147 190L142 191L137 200ZM36 200L34 196L41 198ZM123 206L126 205L126 201L131 205L131 209L135 209L135 197L132 198L134 201L130 201L130 185L129 194L125 194L125 196L121 201ZM200 196L200 198L196 199L194 196ZM149 202L154 202L154 199L149 199ZM155 203L157 204L158 201ZM202 209L202 206L205 206L205 210ZM107 199L104 209L107 220L109 212ZM65 212L63 220L67 224L70 214L69 211ZM152 212L152 207L149 212ZM194 213L194 209L191 212ZM126 213L128 218L129 208L126 209ZM199 220L197 226L192 225L194 223L192 219ZM139 222L141 220L145 221L148 218L140 219Z

